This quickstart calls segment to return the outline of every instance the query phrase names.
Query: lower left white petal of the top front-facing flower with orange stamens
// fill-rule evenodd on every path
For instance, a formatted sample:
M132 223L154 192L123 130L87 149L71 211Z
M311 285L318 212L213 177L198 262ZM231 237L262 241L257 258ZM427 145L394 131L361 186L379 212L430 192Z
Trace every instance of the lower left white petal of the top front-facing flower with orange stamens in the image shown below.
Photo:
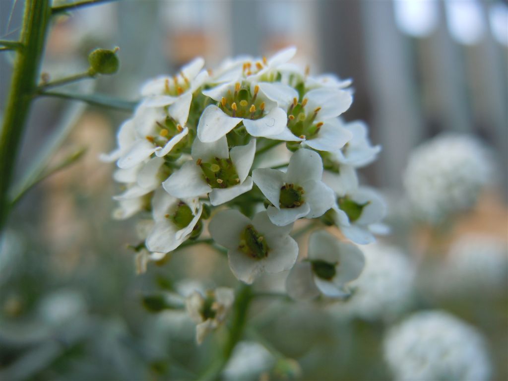
M233 118L215 105L208 106L198 123L198 138L202 142L214 142L233 130L242 118Z

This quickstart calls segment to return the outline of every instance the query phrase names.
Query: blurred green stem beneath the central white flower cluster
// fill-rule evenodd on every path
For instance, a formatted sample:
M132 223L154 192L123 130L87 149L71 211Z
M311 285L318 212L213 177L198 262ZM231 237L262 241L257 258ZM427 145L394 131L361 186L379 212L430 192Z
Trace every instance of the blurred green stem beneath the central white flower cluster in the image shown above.
M236 344L242 338L245 329L245 322L247 320L247 311L250 301L252 300L252 289L250 285L242 283L240 290L236 295L235 305L233 307L233 321L229 336L224 346L224 351L221 356L214 361L211 366L199 377L199 380L216 380L224 367L228 363Z

